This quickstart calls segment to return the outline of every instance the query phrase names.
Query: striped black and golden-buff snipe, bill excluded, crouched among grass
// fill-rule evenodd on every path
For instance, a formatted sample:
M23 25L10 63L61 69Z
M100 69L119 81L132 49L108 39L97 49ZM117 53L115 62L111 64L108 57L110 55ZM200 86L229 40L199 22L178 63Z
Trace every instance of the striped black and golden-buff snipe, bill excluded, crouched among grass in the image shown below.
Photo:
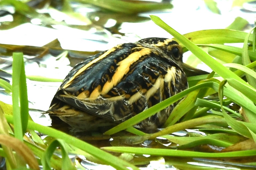
M94 130L123 122L186 88L181 46L171 39L146 38L78 63L47 112L76 130ZM161 127L175 104L135 127Z

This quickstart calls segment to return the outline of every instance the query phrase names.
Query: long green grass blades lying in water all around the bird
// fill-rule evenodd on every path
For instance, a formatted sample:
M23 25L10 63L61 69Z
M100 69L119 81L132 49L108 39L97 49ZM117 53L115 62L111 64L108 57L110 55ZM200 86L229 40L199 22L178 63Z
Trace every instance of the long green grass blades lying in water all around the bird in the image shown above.
M69 1L63 1L65 5L62 11L73 17L77 16L67 2ZM89 3L89 1L83 2ZM131 13L129 9L122 9L119 6L109 7L107 2L111 5L118 5L121 2L134 3L133 6L137 7L150 4L148 9L152 9L151 3L141 3L138 6L137 1L114 3L113 0L98 3L98 6L105 4L100 6L105 8L104 10L113 9L113 11ZM66 24L39 14L25 3L3 0L0 4L15 6L18 14L15 13L14 17L30 19L39 17L42 25L45 26ZM15 4L22 7L17 8ZM97 6L97 4L93 5ZM154 3L154 5L159 4ZM168 6L170 7L171 5ZM160 5L155 9L162 8L163 6ZM37 124L31 119L26 78L45 82L61 82L62 79L25 75L23 54L32 53L42 57L51 52L58 52L60 54L56 60L60 60L66 56L88 56L93 52L64 50L57 40L43 47L0 44L1 49L4 49L1 54L13 56L12 83L0 79L0 86L6 94L12 96L13 100L12 105L0 101L2 146L0 155L5 157L7 169L26 169L27 165L30 169L86 169L86 166L82 166L86 164L101 166L102 169L111 169L111 167L139 169L146 166L155 169L172 166L177 169L202 169L208 166L208 169L213 170L223 167L225 169L256 168L255 28L246 33L234 30L237 28L234 25L237 24L233 24L230 26L232 29L202 30L181 35L159 17L154 15L150 17L155 24L174 36L173 39L182 45L184 52L194 54L188 58L187 64L196 66L197 63L193 61L198 58L213 71L207 75L189 75L187 90L103 134L92 133L92 136L84 138L80 134L74 137L60 130ZM83 16L78 18L82 19ZM236 22L241 23L240 19L238 18L239 21ZM17 24L13 23L9 26L13 27ZM72 25L75 26L77 27ZM242 27L239 25L238 29ZM3 25L0 25L0 28L3 29ZM243 43L243 45L236 47L235 43ZM182 99L183 97L185 98ZM163 129L146 134L132 127L180 99L181 102L174 108ZM97 145L98 141L104 145ZM70 155L76 156L70 159ZM156 162L157 165L154 164Z

